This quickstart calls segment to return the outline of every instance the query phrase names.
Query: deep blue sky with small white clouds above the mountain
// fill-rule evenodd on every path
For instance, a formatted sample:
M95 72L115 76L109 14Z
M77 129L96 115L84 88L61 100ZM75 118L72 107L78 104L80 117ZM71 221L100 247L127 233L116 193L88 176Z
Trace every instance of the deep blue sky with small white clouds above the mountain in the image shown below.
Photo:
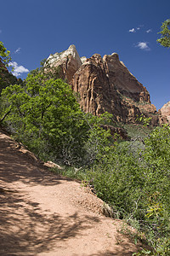
M170 49L156 43L169 0L0 0L0 41L15 72L75 44L80 56L118 53L157 109L170 101Z

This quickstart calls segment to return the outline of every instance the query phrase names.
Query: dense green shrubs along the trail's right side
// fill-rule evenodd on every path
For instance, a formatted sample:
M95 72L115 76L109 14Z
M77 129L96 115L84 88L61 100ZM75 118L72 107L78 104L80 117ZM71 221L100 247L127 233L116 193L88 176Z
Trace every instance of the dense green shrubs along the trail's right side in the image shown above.
M115 143L107 156L89 172L97 195L109 203L116 216L139 231L155 246L170 235L170 127L151 131L144 145Z

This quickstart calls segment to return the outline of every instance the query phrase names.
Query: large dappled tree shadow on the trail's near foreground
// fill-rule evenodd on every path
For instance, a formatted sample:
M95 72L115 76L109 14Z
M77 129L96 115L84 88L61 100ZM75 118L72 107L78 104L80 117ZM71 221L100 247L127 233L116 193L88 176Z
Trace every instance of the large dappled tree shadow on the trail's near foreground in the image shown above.
M63 218L42 212L39 204L17 192L1 191L0 255L36 255L52 250L59 241L67 241L82 230L93 228L99 218L79 216L77 212ZM57 210L57 209L56 209Z

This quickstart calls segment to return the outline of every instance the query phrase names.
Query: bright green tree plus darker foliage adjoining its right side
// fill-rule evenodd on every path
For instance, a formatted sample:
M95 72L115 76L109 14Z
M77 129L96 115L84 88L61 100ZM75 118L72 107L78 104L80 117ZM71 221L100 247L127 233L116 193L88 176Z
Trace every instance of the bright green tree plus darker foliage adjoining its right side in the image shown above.
M1 100L2 122L42 159L68 165L92 162L110 136L99 127L106 115L97 118L83 113L71 86L61 79L49 79L42 69L28 74L24 86L8 86ZM90 142L94 136L95 143Z

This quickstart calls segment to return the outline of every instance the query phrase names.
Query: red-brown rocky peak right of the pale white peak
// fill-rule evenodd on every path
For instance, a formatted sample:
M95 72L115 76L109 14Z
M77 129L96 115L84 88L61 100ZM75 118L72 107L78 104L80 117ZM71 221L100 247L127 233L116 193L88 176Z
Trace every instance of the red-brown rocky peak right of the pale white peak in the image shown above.
M108 111L125 123L135 122L137 114L147 113L147 109L151 114L156 113L149 92L116 53L88 58L74 74L71 84L80 94L80 104L87 113L98 115Z

